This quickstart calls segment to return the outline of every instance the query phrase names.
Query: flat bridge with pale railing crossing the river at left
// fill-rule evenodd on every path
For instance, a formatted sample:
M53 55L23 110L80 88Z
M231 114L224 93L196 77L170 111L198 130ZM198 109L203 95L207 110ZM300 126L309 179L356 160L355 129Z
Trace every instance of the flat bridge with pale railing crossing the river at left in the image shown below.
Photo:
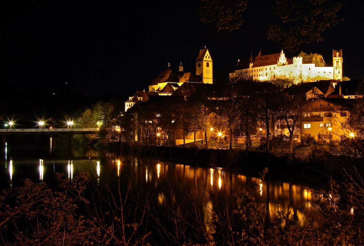
M33 129L0 129L2 136L2 146L5 146L6 136L10 135L68 135L68 143L72 145L72 136L74 134L98 134L97 128L33 128Z

